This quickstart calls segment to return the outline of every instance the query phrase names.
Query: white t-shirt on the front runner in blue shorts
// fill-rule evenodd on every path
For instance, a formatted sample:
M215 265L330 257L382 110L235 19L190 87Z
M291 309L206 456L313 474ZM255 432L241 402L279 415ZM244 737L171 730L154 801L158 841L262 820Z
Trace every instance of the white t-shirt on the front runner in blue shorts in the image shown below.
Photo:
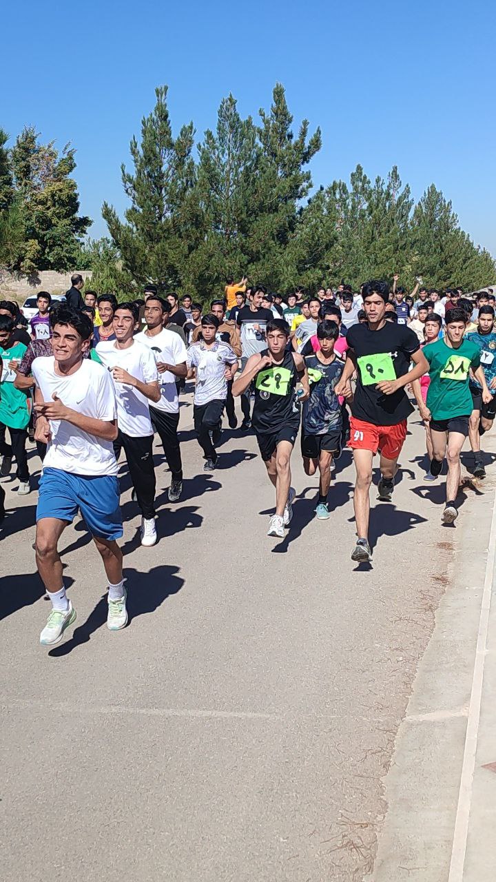
M53 400L53 393L66 407L95 420L116 419L116 393L109 373L101 364L87 358L68 377L55 372L55 358L35 358L32 372L43 401ZM111 441L89 435L65 420L50 420L51 441L43 468L60 468L72 475L116 475L117 463Z

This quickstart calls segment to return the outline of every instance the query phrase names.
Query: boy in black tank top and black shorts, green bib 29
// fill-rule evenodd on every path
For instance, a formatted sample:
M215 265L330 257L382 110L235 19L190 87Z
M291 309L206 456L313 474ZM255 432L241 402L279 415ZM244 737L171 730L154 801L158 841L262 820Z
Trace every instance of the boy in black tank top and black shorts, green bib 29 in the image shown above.
M243 373L232 385L232 393L235 397L242 395L254 381L252 426L267 475L275 487L275 514L270 519L267 536L283 539L284 527L288 527L293 516L291 504L296 495L290 486L290 459L300 422L298 379L304 390L300 401L309 397L310 390L302 356L286 349L288 323L282 318L271 319L267 322L266 335L267 349L250 356Z

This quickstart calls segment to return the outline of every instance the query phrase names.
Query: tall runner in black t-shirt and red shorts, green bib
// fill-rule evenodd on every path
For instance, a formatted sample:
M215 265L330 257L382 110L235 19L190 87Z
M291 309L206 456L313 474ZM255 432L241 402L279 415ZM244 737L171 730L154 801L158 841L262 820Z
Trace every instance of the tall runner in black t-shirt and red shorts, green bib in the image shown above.
M367 324L349 328L346 363L334 390L336 395L348 395L351 375L357 371L349 446L357 469L353 506L358 539L351 560L358 563L372 557L368 529L373 456L380 450L379 498L390 502L397 460L407 434L407 417L413 410L404 387L429 370L417 335L406 325L386 321L387 282L367 282L362 296ZM410 361L414 367L409 372Z

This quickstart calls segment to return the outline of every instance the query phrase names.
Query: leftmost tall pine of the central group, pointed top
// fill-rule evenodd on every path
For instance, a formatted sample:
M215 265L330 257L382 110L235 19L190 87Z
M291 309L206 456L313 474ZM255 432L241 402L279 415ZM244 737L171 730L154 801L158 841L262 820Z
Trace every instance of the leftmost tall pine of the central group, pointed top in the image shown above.
M140 145L132 138L134 174L121 167L131 201L125 221L108 203L102 208L124 271L139 285L153 281L162 290L191 285L190 259L203 231L194 195L193 124L184 125L173 138L167 91L167 86L155 89L154 110L141 122Z

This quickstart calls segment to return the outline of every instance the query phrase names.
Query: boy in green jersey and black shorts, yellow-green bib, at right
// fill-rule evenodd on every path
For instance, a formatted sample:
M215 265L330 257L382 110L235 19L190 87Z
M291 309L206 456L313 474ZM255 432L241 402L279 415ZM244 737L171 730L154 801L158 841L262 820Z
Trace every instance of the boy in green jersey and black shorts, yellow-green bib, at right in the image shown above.
M473 409L470 370L482 389L483 402L492 402L480 364L480 349L476 343L463 338L466 326L465 310L447 310L445 337L429 343L423 353L429 364L431 383L420 415L431 423L432 475L440 475L445 454L447 457L446 506L442 514L445 524L452 524L458 517L456 496L461 475L460 452L469 434Z

